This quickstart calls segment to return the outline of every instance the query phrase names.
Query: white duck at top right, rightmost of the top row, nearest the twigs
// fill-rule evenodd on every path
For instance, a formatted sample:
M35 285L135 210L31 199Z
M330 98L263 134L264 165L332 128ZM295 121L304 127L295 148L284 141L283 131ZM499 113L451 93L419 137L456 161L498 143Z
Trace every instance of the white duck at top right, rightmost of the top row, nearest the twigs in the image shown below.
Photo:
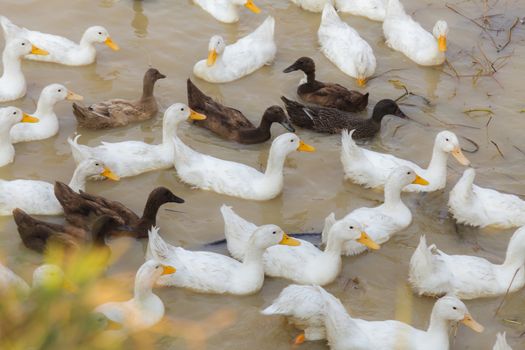
M437 21L430 34L405 12L399 0L387 0L383 34L388 47L421 66L438 66L445 62L446 21Z

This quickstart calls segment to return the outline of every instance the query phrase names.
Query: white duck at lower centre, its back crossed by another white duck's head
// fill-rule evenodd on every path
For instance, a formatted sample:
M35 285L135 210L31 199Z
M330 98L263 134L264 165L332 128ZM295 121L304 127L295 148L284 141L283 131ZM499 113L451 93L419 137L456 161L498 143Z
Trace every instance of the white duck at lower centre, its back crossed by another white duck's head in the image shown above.
M249 247L250 236L258 227L238 216L230 207L223 205L224 233L230 254L243 260ZM300 284L325 285L333 282L341 271L341 250L346 242L364 244L379 249L355 220L341 220L330 228L324 251L312 243L297 239L299 247L276 245L266 249L263 255L264 272L268 276L283 277Z

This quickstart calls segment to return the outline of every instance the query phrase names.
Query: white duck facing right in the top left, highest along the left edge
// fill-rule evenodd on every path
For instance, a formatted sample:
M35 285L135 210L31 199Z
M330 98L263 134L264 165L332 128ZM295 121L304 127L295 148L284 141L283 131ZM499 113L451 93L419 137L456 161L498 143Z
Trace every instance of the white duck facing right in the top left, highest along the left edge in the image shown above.
M27 52L24 58L28 60L54 62L66 66L85 66L95 62L97 50L93 44L104 43L113 51L120 49L111 39L106 28L101 26L86 29L77 44L62 36L20 28L5 16L0 16L0 25L6 41L14 37L25 38L49 53L39 55L38 52Z

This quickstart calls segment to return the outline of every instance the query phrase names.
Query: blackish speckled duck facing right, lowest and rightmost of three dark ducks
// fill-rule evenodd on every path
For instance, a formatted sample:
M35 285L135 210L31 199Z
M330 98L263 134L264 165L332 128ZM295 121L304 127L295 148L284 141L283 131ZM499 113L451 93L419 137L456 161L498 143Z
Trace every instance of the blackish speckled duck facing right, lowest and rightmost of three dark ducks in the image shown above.
M381 121L387 115L407 118L397 103L384 99L374 106L372 116L364 119L361 116L344 112L336 108L305 106L281 96L286 111L293 124L320 133L338 134L342 130L354 130L354 139L370 138L381 130Z

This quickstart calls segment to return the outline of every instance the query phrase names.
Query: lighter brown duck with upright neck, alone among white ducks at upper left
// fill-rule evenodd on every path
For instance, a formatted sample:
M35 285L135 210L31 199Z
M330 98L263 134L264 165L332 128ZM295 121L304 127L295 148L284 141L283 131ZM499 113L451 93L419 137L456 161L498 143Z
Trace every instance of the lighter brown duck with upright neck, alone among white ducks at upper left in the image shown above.
M78 125L87 129L109 129L129 123L145 121L157 115L158 104L153 89L159 79L166 76L155 68L144 74L142 96L137 100L112 99L84 107L73 103Z

